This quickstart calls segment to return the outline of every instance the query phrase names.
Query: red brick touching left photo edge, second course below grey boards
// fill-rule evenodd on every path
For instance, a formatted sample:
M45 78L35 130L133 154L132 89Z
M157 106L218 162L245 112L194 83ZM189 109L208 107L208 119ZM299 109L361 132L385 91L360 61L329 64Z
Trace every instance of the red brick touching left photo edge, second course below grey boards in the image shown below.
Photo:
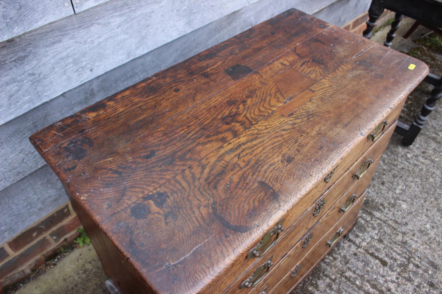
M38 256L43 253L46 249L51 246L50 241L47 238L42 238L38 240L23 252L15 255L10 260L6 261L4 264L0 265L0 279L11 275L17 268L22 267L33 257ZM40 258L40 257L39 257Z

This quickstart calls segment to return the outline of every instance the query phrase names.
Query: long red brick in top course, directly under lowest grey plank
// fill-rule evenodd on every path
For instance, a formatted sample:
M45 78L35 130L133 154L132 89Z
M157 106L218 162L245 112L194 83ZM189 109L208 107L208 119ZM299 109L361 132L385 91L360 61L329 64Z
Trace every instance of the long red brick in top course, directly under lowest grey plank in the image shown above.
M67 217L69 217L71 212L69 211L68 205L57 210L52 215L46 217L40 223L34 225L33 227L27 229L23 233L19 234L17 237L13 238L8 242L9 248L12 251L19 251L20 249L26 247L29 243L33 242L48 232L51 228L57 226Z

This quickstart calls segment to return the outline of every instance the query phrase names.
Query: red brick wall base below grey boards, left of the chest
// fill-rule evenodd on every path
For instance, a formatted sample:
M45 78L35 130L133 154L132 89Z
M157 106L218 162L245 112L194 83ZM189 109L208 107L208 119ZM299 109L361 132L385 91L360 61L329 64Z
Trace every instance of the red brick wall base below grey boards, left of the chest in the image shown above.
M80 222L70 203L15 235L0 246L0 293L23 279L78 235Z

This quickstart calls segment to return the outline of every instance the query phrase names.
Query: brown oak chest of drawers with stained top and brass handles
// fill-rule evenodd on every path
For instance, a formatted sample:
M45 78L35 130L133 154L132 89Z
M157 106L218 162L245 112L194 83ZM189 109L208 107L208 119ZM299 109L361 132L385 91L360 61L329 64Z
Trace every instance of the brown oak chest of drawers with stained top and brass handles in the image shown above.
M291 9L33 134L122 293L286 293L427 66Z

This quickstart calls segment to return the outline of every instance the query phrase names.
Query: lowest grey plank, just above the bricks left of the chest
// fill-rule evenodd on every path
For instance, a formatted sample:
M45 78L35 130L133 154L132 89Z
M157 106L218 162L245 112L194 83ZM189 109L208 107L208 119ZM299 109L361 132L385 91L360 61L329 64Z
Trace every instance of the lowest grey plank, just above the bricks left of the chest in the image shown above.
M67 201L61 182L47 165L0 191L0 244Z

